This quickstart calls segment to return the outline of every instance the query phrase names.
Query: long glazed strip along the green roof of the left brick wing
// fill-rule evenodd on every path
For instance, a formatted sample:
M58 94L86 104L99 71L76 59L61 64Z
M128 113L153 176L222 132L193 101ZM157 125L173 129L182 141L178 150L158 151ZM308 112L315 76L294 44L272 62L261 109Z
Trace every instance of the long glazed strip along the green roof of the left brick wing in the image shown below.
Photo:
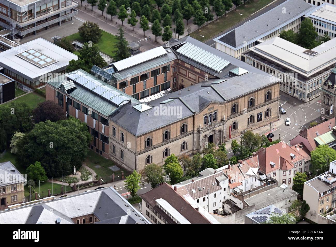
M125 100L128 101L131 99L130 96L122 94L118 89L109 86L99 79L94 79L93 76L84 74L80 71L67 74L67 77L87 88L88 90L91 90L92 92L111 101L116 106L120 106Z

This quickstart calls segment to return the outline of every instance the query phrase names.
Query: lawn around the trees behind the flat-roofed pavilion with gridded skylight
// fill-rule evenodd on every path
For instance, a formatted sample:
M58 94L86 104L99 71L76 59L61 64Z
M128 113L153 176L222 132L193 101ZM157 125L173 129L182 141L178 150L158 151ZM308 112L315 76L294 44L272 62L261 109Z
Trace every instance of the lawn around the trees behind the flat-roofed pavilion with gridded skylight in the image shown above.
M68 36L68 39L72 42L74 40L77 40L81 43L84 43L84 40L79 35L79 33L72 34ZM117 37L109 34L108 32L102 31L102 36L100 40L98 41L98 47L102 53L105 53L106 55L113 57L115 55L114 52L112 52L113 47L115 46L115 43L117 42ZM75 53L75 52L74 52ZM76 54L76 53L75 53ZM77 55L77 54L76 54Z

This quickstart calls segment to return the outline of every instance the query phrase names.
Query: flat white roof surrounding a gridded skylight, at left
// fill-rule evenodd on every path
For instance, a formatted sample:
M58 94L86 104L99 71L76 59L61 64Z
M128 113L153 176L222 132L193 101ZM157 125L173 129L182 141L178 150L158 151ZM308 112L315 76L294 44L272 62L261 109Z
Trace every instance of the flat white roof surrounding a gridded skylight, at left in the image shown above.
M22 54L29 50L37 51L41 53L41 55L44 54L45 56L56 60L56 62L40 68L22 57L17 56L17 54ZM69 52L45 39L38 38L1 52L0 66L9 69L16 74L25 75L35 81L46 73L52 73L60 68L68 66L69 61L72 59L77 60L77 56L74 53Z

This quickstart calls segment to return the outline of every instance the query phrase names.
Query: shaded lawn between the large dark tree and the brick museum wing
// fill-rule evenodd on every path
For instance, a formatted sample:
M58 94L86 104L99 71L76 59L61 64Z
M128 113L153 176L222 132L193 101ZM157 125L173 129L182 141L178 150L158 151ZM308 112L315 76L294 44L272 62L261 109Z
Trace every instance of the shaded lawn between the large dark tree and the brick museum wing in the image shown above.
M118 176L121 178L121 172L124 171L124 177L128 176L130 173L126 169L120 169L118 171L112 171L109 167L114 166L115 163L111 160L105 159L104 157L96 154L94 151L89 150L88 156L85 160L85 164L94 170L98 176L101 177L104 181L112 181L112 173L115 175L115 179L118 179ZM95 166L99 165L100 168Z

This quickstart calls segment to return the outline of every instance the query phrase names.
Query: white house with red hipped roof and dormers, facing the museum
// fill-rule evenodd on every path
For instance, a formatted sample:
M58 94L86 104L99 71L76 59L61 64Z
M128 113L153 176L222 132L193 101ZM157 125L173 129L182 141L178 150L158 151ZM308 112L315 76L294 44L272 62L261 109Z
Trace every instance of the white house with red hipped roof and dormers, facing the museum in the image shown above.
M260 171L263 174L292 188L295 174L309 171L304 152L299 151L299 147L290 147L285 142L279 142L267 148L260 148L253 156L258 156Z

